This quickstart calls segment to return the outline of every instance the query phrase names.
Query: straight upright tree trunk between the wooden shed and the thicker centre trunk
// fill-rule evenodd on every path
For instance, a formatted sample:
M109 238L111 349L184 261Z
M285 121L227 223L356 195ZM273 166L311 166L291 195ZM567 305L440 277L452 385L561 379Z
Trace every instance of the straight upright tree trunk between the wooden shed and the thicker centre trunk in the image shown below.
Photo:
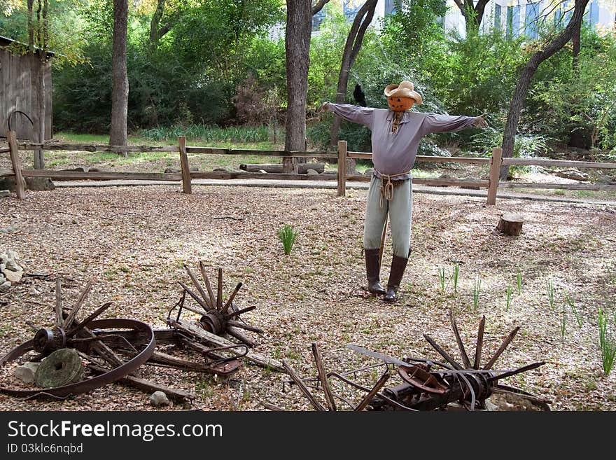
M112 146L124 146L127 140L127 22L128 1L113 0L113 88L111 90L111 130L109 132L109 145Z

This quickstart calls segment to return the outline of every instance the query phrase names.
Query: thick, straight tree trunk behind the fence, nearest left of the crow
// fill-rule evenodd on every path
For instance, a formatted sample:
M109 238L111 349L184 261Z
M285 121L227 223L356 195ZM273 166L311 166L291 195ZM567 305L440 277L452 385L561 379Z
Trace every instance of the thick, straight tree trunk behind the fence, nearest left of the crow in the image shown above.
M311 0L288 0L286 11L287 111L284 149L306 149L306 96L312 32ZM297 171L297 158L283 158L286 173Z

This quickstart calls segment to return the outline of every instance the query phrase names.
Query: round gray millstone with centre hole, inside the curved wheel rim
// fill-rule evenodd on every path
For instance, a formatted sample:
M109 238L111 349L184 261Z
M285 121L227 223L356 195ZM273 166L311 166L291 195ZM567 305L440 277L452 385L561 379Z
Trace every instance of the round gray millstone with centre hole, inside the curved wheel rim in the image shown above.
M38 366L34 382L41 388L56 388L77 382L82 371L83 364L77 351L62 348L54 351Z

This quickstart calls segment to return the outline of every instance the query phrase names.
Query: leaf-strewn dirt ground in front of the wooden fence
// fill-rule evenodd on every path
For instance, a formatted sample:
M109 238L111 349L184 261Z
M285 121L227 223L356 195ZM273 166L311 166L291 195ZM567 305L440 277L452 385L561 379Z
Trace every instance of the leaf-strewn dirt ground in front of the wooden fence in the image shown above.
M498 200L496 207L486 207L481 198L416 194L402 298L389 305L363 290L365 195L364 190L337 198L334 190L216 186L194 186L193 195L183 195L179 186L142 186L57 188L27 191L23 201L14 195L0 199L0 249L17 251L27 273L0 293L0 354L33 336L26 321L50 326L56 275L64 279L65 305L92 280L84 312L112 301L106 316L162 328L181 295L178 281L189 282L183 264L196 268L203 260L211 277L223 267L225 297L244 283L237 303L257 308L243 317L265 330L248 333L257 342L255 350L287 361L302 377L316 375L313 342L325 368L336 372L377 363L346 348L349 343L396 358L440 359L423 333L458 357L451 309L469 354L485 315L484 359L519 326L495 367L546 362L503 383L547 398L552 410L616 410L616 372L604 375L598 347L599 309L608 312L615 333L616 209L527 200ZM505 211L524 215L519 237L493 231ZM277 235L285 224L297 231L288 256ZM383 279L389 260L386 245ZM1 386L16 385L14 368L0 370ZM379 375L374 371L363 378L374 383ZM182 407L311 408L295 387L285 385L283 391L286 375L249 363L224 382L149 366L145 376L195 393L194 402ZM66 400L0 394L0 408L153 409L147 393L120 384Z

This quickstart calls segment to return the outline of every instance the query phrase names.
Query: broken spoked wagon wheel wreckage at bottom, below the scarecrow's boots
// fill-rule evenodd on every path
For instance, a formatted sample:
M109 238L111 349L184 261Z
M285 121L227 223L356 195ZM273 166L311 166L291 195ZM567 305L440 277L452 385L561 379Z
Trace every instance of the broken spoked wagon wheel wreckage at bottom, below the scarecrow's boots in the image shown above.
M337 372L325 374L323 365L320 363L321 358L317 353L314 356L317 363L318 377L302 380L297 377L292 369L287 369L287 372L293 383L297 384L300 391L304 393L304 396L309 398L316 410L325 410L325 407L318 403L317 398L309 390L310 388L322 390L325 393L325 400L328 402L330 410L335 410L335 399L344 401L353 410L444 410L454 406L466 410L485 410L487 406L486 401L492 396L494 396L493 399L504 398L506 401L514 400L519 407L532 407L532 410L549 410L546 400L531 393L526 393L526 391L521 389L500 383L500 380L506 377L536 369L545 364L544 362L532 363L517 369L493 370L494 363L503 354L503 351L513 340L519 328L514 328L505 337L496 353L482 365L485 316L479 323L477 345L472 363L468 354L466 354L453 314L450 314L450 319L462 363L454 360L435 340L429 335L424 334L423 337L426 338L430 346L446 362L423 358L397 359L359 347L356 344L347 345L353 351L377 358L384 363L381 364L381 366L384 366L384 372L372 387L354 382L350 377L377 366L372 365L342 374ZM316 345L313 344L313 351L315 347ZM385 387L384 384L391 377L392 366L397 370L402 382L395 386ZM365 393L365 395L360 400L360 403L353 403L349 398L333 393L329 379L337 379L353 389ZM316 382L316 385L314 382ZM275 407L269 408L274 409Z

